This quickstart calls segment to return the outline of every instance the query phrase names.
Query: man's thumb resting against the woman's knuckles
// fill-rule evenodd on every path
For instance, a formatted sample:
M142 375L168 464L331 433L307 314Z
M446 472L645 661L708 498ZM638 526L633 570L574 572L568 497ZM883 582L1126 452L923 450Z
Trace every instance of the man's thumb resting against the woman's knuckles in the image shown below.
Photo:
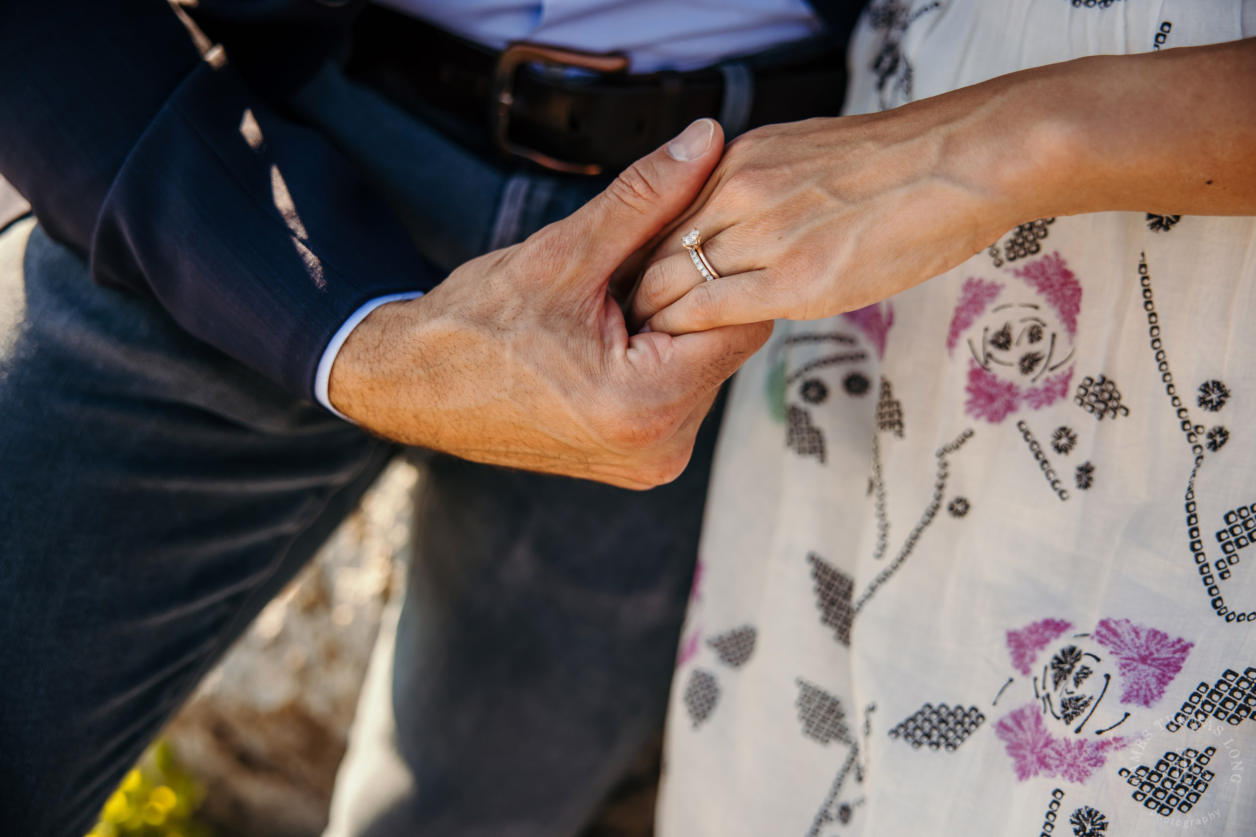
M658 235L693 202L722 151L720 123L698 119L561 222L570 225L579 272L604 279Z

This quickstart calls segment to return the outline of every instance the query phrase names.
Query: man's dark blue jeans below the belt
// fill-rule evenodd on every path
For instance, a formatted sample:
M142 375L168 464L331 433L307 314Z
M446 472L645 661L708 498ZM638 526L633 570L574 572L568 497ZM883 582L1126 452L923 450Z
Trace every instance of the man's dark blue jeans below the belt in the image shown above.
M324 73L299 107L452 267L594 187L499 171ZM362 834L578 831L662 724L713 447L646 493L432 456L398 629L417 791ZM80 837L396 448L0 233L0 828Z

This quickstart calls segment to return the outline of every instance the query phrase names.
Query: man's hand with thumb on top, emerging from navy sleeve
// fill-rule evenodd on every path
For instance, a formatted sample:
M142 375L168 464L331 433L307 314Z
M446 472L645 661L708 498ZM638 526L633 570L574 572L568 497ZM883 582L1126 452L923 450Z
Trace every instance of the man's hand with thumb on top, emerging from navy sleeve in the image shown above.
M625 488L676 478L720 384L771 324L629 336L607 289L722 147L701 119L569 218L376 309L337 356L332 403L383 437L477 462Z

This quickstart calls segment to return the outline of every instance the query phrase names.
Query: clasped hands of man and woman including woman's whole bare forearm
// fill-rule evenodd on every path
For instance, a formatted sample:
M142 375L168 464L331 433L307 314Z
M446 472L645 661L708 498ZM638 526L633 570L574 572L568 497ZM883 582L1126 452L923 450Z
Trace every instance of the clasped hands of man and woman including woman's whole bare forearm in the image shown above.
M664 483L774 319L870 305L1034 218L1256 213L1256 108L1233 107L1253 84L1248 39L1046 65L727 148L701 119L566 220L377 309L330 400L467 459ZM721 279L695 269L691 227ZM638 277L625 315L613 290Z

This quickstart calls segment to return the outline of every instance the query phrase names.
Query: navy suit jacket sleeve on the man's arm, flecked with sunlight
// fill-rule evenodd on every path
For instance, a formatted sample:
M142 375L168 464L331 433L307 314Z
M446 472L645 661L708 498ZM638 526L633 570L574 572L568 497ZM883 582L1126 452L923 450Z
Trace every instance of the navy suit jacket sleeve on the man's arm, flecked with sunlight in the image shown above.
M317 14L309 0L201 3L215 5L261 9L298 39L291 19ZM0 4L0 174L97 282L151 294L313 398L353 311L441 275L354 167L227 55L201 60L165 0Z

